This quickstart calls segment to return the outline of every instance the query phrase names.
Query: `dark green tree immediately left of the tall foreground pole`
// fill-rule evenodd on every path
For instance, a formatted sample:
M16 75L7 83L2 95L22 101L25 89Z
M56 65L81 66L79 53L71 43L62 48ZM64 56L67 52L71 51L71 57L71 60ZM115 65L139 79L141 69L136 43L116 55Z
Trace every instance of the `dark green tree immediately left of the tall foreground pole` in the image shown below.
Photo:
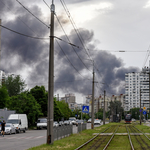
M46 117L47 116L47 102L48 102L48 93L45 90L44 86L35 86L29 92L36 99L36 101L40 104L42 113Z

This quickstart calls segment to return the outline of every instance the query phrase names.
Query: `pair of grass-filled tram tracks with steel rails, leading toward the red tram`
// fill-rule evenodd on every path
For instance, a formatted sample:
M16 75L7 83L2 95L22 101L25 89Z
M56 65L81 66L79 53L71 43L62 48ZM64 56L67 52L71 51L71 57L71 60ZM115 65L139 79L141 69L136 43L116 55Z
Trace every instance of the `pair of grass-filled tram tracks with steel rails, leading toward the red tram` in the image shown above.
M148 138L145 133L143 133L142 131L140 131L133 125L126 125L126 126L123 126L123 128L124 127L126 128L124 129L124 131L126 130L127 133L125 134L123 133L122 135L128 136L129 143L130 143L132 150L137 149L137 145L135 145L135 143L138 143L139 145L138 148L140 148L141 150L150 149L150 144L149 144L150 138ZM80 147L76 148L75 150L97 150L97 149L106 150L109 146L111 147L110 143L115 137L115 135L119 134L117 133L118 128L119 126L117 125L108 127L103 132L98 133L92 139L90 139L89 141L81 145Z

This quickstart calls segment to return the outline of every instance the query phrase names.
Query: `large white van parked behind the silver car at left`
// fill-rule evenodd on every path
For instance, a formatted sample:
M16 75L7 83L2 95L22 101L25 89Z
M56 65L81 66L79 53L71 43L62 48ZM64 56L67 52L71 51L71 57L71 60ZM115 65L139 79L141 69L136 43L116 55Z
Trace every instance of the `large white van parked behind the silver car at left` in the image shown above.
M12 123L18 133L21 131L26 132L28 129L28 120L26 114L10 114L7 119L7 123Z

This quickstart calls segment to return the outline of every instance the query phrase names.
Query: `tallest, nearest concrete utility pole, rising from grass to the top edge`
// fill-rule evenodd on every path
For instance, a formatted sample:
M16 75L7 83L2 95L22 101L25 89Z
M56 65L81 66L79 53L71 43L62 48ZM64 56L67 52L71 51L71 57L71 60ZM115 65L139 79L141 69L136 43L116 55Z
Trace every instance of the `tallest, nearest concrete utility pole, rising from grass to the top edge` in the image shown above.
M53 144L53 118L54 118L54 13L55 5L51 4L51 26L49 46L49 79L48 79L48 108L47 108L47 144Z

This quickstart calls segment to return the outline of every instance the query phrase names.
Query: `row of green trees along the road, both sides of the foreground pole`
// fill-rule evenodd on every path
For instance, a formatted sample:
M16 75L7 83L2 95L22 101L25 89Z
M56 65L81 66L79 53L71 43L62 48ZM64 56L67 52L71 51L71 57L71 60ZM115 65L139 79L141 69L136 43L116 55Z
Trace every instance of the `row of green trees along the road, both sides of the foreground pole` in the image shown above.
M0 86L0 108L27 114L29 126L33 126L39 117L47 117L48 92L44 86L25 89L25 81L20 75L8 76ZM75 112L69 109L68 104L54 97L54 120L67 120L71 116L74 117Z

